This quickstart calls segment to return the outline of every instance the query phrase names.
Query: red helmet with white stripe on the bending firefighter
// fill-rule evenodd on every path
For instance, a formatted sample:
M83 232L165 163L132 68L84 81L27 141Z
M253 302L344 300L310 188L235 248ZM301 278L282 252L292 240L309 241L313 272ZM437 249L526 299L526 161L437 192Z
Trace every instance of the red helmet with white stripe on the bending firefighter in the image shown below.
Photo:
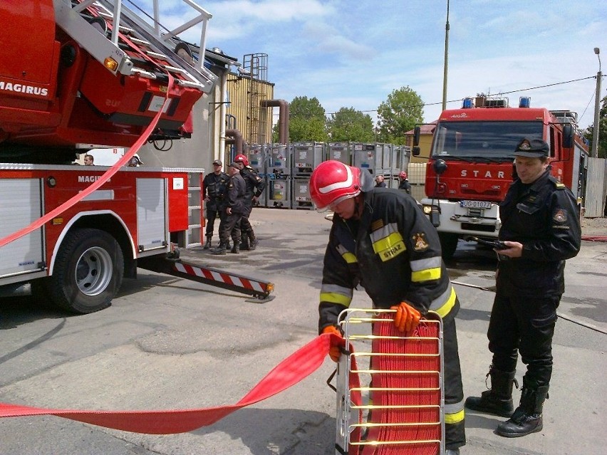
M318 164L310 177L310 196L319 211L371 188L373 177L368 171L333 159Z

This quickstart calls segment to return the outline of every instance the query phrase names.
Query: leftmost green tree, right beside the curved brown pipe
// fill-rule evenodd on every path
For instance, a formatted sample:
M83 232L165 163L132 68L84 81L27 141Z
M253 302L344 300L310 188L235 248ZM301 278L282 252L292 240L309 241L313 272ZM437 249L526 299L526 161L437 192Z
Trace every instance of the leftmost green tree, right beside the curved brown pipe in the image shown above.
M272 137L278 140L278 125L274 125ZM317 98L296 96L289 103L289 140L291 142L326 142L325 109Z

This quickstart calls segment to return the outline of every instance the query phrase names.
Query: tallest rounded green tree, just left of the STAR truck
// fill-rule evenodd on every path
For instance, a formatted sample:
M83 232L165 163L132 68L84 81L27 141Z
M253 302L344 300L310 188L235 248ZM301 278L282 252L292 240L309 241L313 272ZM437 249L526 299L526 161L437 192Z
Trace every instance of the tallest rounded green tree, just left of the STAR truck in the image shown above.
M407 87L392 90L378 107L378 141L405 144L405 132L423 122L424 102Z

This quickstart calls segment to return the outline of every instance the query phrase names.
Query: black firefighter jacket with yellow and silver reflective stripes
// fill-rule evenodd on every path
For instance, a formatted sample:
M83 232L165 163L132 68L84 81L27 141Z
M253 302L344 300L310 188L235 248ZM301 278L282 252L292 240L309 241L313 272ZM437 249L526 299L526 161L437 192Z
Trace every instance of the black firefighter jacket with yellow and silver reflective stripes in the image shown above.
M422 314L433 310L444 319L454 318L459 302L442 262L438 234L415 199L397 189L374 188L362 194L365 207L359 221L333 217L319 331L337 323L358 284L375 308L405 300Z

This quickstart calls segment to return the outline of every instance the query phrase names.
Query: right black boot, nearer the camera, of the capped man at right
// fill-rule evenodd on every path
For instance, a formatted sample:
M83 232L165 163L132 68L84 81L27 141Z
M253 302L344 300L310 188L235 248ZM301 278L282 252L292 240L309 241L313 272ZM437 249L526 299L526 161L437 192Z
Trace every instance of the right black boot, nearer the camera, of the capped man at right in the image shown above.
M523 381L521 403L512 417L499 424L495 432L506 438L519 438L527 434L540 432L544 428L541 411L548 397L548 386L542 385L531 388Z

